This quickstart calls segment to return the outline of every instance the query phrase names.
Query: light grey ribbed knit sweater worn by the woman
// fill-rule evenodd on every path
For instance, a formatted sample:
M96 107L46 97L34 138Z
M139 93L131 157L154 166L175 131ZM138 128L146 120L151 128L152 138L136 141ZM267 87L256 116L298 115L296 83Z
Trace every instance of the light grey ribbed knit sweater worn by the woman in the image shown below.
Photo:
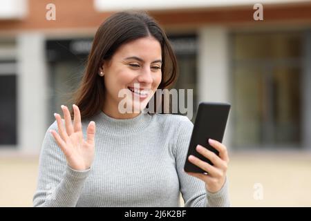
M185 116L140 113L114 119L100 112L91 169L75 171L48 132L41 146L34 206L229 206L228 182L218 193L183 171L192 122ZM88 121L89 122L89 121ZM86 138L86 121L82 131Z

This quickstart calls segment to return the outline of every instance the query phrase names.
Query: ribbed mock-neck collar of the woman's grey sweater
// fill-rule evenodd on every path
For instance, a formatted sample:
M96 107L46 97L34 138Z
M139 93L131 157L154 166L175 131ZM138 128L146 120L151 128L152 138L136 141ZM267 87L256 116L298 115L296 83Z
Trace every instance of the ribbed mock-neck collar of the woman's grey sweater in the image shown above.
M113 134L131 134L142 132L151 121L151 115L145 111L140 112L136 117L129 119L115 119L109 117L103 111L95 117L96 128Z

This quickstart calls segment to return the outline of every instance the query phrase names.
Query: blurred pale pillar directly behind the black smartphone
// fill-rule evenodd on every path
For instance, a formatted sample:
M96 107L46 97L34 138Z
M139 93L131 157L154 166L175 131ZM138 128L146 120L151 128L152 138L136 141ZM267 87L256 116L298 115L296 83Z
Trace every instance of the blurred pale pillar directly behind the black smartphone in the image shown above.
M230 102L227 29L203 27L198 31L198 102ZM230 148L230 116L223 143Z

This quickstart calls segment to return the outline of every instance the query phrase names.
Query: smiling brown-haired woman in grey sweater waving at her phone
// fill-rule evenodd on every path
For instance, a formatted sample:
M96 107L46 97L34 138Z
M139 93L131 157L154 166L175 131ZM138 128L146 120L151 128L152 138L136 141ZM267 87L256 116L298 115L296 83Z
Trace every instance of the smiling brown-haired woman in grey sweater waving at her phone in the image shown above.
M227 148L210 141L218 157L198 146L214 166L189 157L208 175L185 173L193 124L185 116L144 111L156 90L175 80L176 57L146 12L106 19L95 34L77 105L71 113L62 106L64 122L55 114L44 137L34 206L179 206L180 192L185 206L229 206Z

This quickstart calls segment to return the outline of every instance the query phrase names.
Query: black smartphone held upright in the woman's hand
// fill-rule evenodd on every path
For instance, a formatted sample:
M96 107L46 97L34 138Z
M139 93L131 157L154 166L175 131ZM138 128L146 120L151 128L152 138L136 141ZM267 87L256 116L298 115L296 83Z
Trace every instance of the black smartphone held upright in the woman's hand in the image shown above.
M194 155L200 160L213 165L210 160L196 151L196 146L200 144L209 149L209 151L219 155L218 151L209 145L208 140L211 138L218 142L223 142L230 107L231 105L228 103L201 102L199 104L184 167L186 172L206 173L198 166L189 162L189 155Z

